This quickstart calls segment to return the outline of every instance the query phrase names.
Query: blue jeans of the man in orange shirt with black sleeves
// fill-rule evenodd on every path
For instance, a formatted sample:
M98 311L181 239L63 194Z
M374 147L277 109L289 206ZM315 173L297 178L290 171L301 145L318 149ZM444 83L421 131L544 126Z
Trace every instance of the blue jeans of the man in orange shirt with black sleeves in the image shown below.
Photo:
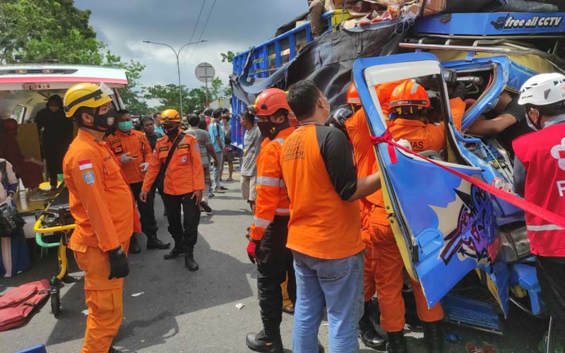
M297 301L292 352L318 352L318 329L326 305L331 353L359 350L357 323L363 314L363 253L324 260L297 251Z

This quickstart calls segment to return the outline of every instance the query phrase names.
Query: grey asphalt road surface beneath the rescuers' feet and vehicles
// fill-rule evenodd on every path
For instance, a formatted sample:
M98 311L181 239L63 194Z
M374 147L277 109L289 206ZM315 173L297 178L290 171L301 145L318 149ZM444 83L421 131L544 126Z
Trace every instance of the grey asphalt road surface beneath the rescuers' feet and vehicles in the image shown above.
M200 270L191 273L182 258L165 261L166 251L143 251L131 255L130 274L124 288L124 320L114 346L125 352L249 352L246 333L261 329L256 290L256 268L249 263L244 233L251 222L248 205L239 193L237 179L225 183L230 191L210 199L212 215L204 215L195 257ZM157 198L158 199L158 198ZM167 221L157 200L155 213L160 239L172 241ZM69 255L71 255L69 253ZM52 250L31 270L13 278L0 278L0 292L33 280L49 278L57 271L57 254ZM70 273L81 277L72 260ZM143 294L132 297L132 294ZM0 333L0 352L16 352L43 343L48 352L80 352L86 316L83 282L61 289L62 313L51 313L49 302L27 325ZM237 309L237 304L244 304ZM325 322L324 322L325 323ZM512 308L505 335L448 325L462 338L448 343L448 352L465 352L467 342L489 342L498 352L536 352L537 341L547 327ZM292 316L284 314L281 328L286 352L291 352ZM408 332L410 352L425 352L421 329ZM319 338L328 352L328 328L322 325ZM361 352L374 352L361 346Z

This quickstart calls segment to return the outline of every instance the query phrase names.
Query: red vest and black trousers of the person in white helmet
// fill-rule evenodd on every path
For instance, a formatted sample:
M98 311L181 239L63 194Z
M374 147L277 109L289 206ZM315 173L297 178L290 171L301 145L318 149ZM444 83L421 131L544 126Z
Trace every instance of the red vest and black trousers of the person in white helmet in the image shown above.
M565 213L565 116L513 141L517 162L525 172L524 198L558 215ZM554 118L555 119L555 118ZM516 170L515 170L516 179ZM565 229L525 213L530 249L536 256L537 280L549 311L565 328Z

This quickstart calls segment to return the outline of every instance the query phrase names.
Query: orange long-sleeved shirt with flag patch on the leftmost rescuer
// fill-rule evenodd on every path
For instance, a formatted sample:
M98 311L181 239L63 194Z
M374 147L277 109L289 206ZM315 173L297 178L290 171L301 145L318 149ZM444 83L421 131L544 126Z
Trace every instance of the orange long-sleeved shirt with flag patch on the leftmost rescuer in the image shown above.
M116 249L133 234L133 195L119 162L104 141L78 131L63 160L69 206L75 219L73 243Z

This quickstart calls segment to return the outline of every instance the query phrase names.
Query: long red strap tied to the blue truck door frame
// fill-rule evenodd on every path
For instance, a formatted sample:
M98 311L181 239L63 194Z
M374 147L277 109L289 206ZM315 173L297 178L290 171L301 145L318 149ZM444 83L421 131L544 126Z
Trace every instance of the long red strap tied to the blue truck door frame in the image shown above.
M558 225L559 227L565 229L565 217L557 215L557 213L553 213L549 210L546 210L545 208L541 208L540 206L535 205L534 203L531 203L529 201L525 201L523 198L519 198L519 197L517 197L517 196L515 196L511 193L507 193L506 191L502 191L501 189L497 189L494 186L487 184L482 180L470 177L467 174L463 174L463 173L459 172L458 170L453 169L451 167L448 167L444 164L441 164L441 163L439 163L435 160L430 160L429 158L422 157L417 152L409 150L408 148L405 148L403 145L399 145L398 143L394 142L392 140L391 132L388 131L388 129L386 130L386 132L381 137L371 136L371 142L374 145L377 145L379 143L387 143L388 144L388 155L391 157L391 162L393 164L398 161L398 158L396 157L396 152L394 151L394 148L393 148L393 146L395 146L396 148L400 148L400 150L403 150L404 152L407 152L410 155L415 155L417 157L420 157L423 160L426 160L427 162L435 164L436 166L440 167L441 169L445 169L446 171L450 172L451 174L455 174L456 176L460 177L461 179L470 182L472 185L477 186L477 188L480 188L484 191L487 191L488 193L496 196L497 198L501 198L502 200L506 201L507 203L511 203L512 205L515 205L516 207L521 208L522 210L525 210L528 213L532 213L533 215L536 215L537 217L540 217L540 218L546 220L547 222L549 222L553 225Z

